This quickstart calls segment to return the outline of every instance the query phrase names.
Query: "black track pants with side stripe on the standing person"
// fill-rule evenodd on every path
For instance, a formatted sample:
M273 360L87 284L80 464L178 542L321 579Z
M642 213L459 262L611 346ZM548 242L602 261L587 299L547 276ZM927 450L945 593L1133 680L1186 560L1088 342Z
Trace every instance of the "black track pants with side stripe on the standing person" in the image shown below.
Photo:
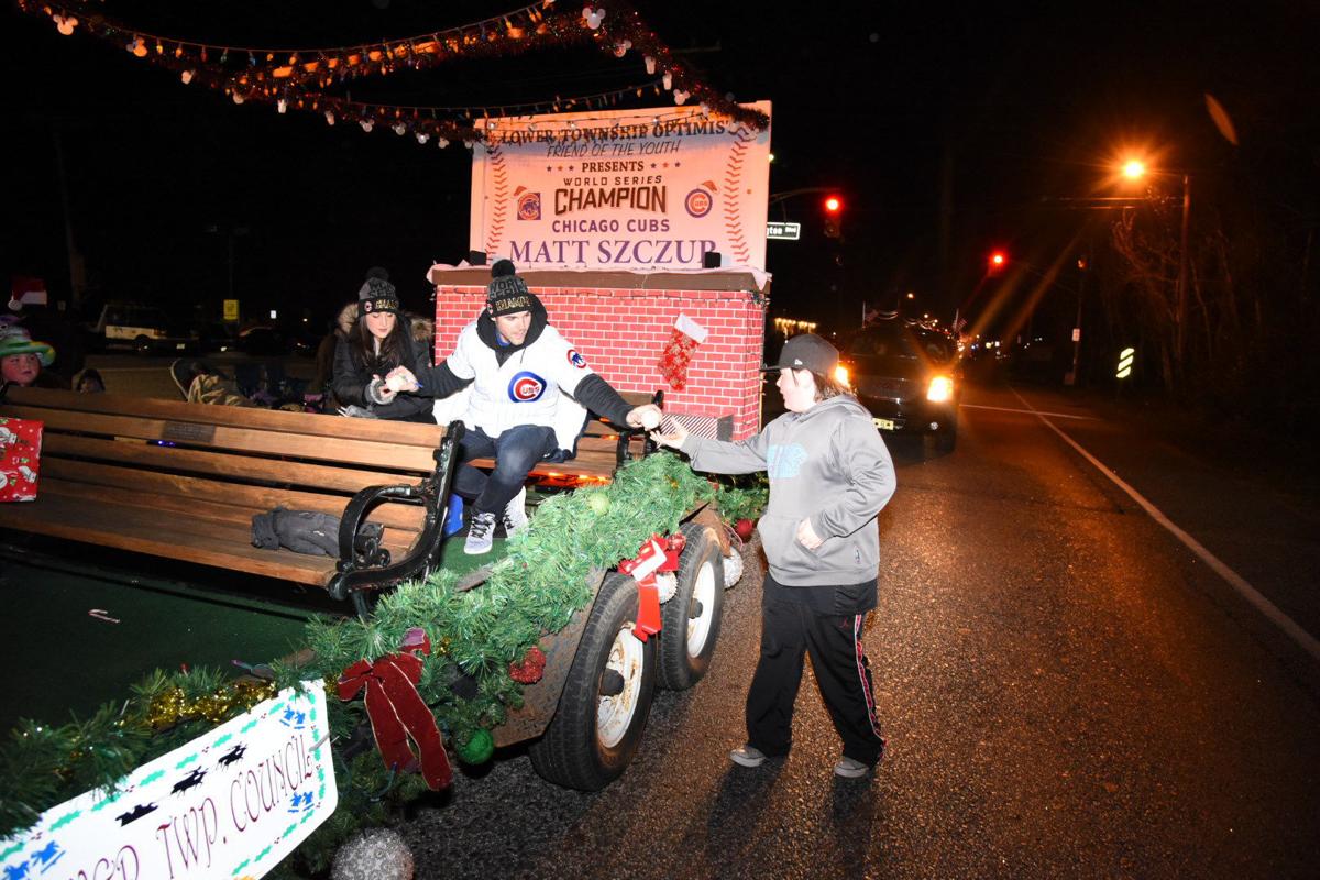
M748 744L766 755L788 753L805 653L843 740L843 755L863 764L880 760L884 740L862 648L865 616L822 615L807 603L783 599L762 608L760 661L747 691Z

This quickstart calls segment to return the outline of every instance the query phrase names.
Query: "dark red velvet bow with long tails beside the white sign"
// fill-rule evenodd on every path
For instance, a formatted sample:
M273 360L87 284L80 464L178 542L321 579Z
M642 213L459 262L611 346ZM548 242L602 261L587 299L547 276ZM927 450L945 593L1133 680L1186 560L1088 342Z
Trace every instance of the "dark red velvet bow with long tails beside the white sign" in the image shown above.
M345 669L339 677L339 699L352 699L366 687L367 718L385 767L416 769L418 757L408 744L411 736L421 756L422 778L432 790L440 790L454 781L454 770L449 767L436 716L417 693L422 666L417 652L430 654L430 639L414 627L400 648L403 653L385 654L375 662L359 660Z

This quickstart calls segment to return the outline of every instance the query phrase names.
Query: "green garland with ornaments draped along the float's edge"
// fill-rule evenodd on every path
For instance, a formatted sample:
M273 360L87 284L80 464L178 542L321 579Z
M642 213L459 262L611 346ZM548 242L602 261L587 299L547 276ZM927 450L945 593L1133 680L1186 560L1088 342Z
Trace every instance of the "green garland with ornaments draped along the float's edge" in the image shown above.
M455 575L441 570L383 596L368 623L312 620L305 646L314 658L302 666L269 664L279 689L315 678L327 686L339 806L300 847L308 867L321 871L329 865L335 847L356 829L387 823L385 800L407 801L426 792L417 774L388 773L374 747L343 759L345 747L360 738L367 724L362 699L343 702L333 695L348 665L393 653L408 629L425 629L433 652L425 658L417 690L462 751L478 731L498 727L510 708L523 705L521 685L510 677L508 665L587 606L591 571L612 569L632 557L652 533L676 532L689 511L714 496L711 484L677 455L648 455L620 468L607 487L545 500L531 528L510 541L508 555L480 587L461 592ZM112 786L135 767L259 702L235 697L231 706L223 703L222 716L183 718L160 730L153 706L158 707L166 694L181 690L190 698L214 697L227 687L232 681L214 670L157 672L123 705L107 703L86 722L50 727L24 720L0 747L5 778L0 835L22 831L44 810L82 792Z

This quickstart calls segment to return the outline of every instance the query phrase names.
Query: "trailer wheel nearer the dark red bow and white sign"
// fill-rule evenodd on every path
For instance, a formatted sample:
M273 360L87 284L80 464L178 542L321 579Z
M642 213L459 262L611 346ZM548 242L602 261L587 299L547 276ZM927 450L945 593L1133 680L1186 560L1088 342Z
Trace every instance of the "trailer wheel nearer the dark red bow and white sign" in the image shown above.
M598 792L619 778L642 743L655 691L656 640L638 640L638 587L616 571L605 577L545 735L528 749L545 780ZM623 693L602 697L606 669L623 673ZM606 678L607 681L607 678Z

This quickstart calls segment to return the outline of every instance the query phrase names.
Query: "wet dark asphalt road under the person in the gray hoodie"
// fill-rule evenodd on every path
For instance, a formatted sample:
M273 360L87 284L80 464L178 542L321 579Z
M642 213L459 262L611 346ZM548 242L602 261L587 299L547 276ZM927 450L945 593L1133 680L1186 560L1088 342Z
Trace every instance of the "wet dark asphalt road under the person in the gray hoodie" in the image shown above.
M1316 633L1313 504L1253 479L1266 462L1208 464L1104 406L964 402L954 453L891 443L873 780L832 776L809 678L792 755L729 763L759 639L752 546L710 674L657 691L622 780L570 792L496 755L405 827L418 876L1315 876L1320 661L1222 574Z

